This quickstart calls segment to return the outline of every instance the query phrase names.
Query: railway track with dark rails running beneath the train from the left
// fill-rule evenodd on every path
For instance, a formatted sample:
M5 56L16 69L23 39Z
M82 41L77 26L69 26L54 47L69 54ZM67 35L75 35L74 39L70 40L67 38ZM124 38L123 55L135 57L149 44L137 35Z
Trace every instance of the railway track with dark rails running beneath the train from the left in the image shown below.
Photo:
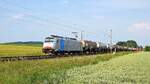
M23 60L41 60L41 59L52 59L57 57L68 57L68 56L88 56L94 55L92 54L75 54L75 55L39 55L39 56L9 56L9 57L0 57L0 62L7 62L7 61L23 61Z

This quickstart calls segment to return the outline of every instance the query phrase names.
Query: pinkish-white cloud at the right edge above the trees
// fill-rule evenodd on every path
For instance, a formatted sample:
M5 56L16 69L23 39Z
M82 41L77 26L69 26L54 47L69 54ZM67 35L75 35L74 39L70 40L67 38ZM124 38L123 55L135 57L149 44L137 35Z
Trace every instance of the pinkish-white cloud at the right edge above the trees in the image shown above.
M133 33L150 33L150 22L137 22L128 28Z

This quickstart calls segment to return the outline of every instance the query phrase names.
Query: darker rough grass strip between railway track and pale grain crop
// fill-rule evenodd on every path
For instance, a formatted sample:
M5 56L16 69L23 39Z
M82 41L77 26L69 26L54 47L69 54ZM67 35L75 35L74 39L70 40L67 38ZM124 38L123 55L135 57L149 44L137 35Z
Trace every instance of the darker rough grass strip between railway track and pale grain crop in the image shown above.
M0 84L61 84L73 68L109 61L127 52L115 55L63 57L48 60L0 62ZM80 75L80 74L79 74Z

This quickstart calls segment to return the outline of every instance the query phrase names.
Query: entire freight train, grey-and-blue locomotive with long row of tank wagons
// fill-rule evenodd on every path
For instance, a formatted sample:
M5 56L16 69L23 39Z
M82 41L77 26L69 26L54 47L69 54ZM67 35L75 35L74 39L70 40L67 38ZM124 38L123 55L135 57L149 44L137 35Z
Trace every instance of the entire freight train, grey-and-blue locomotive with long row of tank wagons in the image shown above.
M137 51L137 48L128 48L113 45L107 46L102 42L88 40L79 41L75 38L51 35L46 37L43 43L42 52L45 54L89 54L106 53L119 51Z

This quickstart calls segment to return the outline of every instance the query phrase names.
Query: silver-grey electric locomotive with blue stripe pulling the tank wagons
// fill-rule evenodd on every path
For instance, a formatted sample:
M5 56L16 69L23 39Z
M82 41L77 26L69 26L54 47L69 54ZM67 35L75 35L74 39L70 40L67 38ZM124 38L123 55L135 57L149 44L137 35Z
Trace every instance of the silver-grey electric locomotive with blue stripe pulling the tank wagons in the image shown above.
M82 44L75 38L51 35L45 38L43 52L46 54L64 54L82 52Z

